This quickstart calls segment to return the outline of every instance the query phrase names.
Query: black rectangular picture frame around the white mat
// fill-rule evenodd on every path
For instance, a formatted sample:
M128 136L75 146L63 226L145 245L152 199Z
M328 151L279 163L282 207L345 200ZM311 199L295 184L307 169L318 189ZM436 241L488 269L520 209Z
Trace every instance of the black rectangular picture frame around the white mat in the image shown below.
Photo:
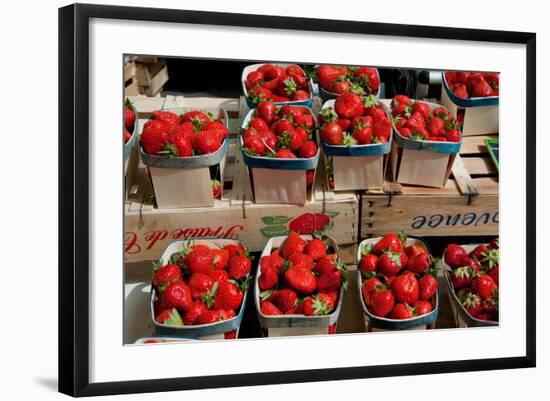
M89 381L89 22L178 22L350 34L515 43L526 46L526 354L522 357L232 374L124 382ZM59 391L72 396L421 375L536 365L536 35L447 27L75 4L59 9Z

